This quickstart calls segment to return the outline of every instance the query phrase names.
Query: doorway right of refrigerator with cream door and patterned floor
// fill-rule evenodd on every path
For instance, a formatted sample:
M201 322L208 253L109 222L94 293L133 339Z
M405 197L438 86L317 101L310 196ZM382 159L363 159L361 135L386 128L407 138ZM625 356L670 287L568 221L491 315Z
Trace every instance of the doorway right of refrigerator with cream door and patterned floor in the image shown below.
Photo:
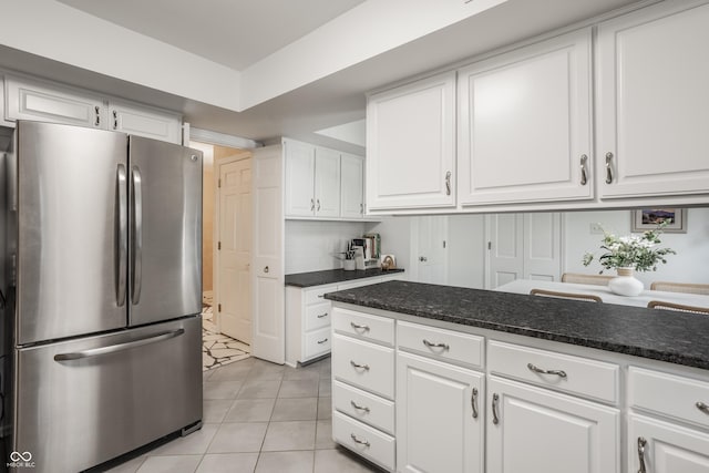
M251 153L189 142L204 153L203 367L249 357Z

